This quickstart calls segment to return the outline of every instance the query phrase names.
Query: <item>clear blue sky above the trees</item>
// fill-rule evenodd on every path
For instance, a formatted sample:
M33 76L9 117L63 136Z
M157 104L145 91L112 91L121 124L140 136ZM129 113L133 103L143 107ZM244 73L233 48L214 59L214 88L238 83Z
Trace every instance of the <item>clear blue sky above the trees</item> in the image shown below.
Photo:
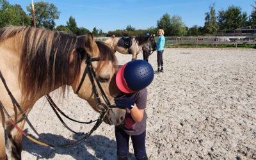
M252 12L254 0L44 0L53 3L60 10L56 25L66 25L70 15L76 19L78 27L92 31L93 27L104 32L125 29L131 25L136 29L157 26L164 13L179 15L186 26L204 26L205 12L215 3L216 11L228 6L241 6L248 15ZM26 11L31 0L9 0L10 4L20 4ZM34 3L38 2L34 0Z

